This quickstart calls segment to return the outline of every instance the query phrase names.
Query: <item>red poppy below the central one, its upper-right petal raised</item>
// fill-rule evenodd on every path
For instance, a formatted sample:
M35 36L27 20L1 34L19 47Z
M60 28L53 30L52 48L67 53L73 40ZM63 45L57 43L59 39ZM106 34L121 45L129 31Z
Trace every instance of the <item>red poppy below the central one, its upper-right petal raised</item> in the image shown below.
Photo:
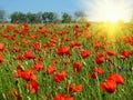
M66 71L62 71L61 73L55 73L54 81L61 82L65 79L65 77L66 77Z

